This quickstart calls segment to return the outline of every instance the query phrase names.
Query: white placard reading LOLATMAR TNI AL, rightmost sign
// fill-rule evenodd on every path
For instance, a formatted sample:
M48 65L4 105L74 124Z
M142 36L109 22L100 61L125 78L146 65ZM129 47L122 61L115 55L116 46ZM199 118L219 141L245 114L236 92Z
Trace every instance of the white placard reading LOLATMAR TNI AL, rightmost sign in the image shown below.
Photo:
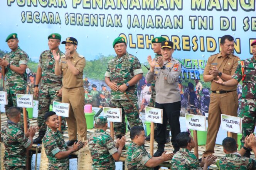
M221 128L228 132L241 133L242 120L240 117L221 114Z

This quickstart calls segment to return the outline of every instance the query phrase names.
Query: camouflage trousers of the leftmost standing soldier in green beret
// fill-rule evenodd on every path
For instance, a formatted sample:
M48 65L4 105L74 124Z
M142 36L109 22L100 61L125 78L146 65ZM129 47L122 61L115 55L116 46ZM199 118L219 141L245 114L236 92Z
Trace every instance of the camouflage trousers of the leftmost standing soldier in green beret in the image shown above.
M9 114L9 108L10 107L17 107L17 97L16 94L25 94L25 89L24 90L17 90L17 91L11 91L7 89L7 99L8 99L8 105L5 105L5 113L7 113L7 117ZM24 131L24 122L23 122L23 109L20 108L20 113L21 113L21 118L20 122L18 123L18 127ZM8 118L9 119L9 118ZM27 114L27 127L29 128L29 115Z

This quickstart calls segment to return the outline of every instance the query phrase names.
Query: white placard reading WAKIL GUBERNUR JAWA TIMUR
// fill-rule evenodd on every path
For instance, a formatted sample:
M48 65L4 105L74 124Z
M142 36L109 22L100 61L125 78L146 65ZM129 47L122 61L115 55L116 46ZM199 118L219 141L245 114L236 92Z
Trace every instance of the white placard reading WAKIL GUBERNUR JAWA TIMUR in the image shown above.
M69 117L69 103L53 101L52 111L55 112L57 116Z

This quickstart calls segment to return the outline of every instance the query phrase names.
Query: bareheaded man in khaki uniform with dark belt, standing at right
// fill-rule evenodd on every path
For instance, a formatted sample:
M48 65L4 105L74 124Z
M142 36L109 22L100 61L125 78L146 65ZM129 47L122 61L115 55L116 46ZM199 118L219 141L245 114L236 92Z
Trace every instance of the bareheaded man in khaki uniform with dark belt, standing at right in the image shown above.
M204 70L204 82L211 82L208 132L204 156L214 153L217 133L221 125L221 114L237 116L238 99L236 85L225 87L212 80L219 76L224 82L230 80L236 71L239 57L232 54L234 51L234 38L230 35L221 37L221 52L208 58ZM231 133L237 141L237 133Z

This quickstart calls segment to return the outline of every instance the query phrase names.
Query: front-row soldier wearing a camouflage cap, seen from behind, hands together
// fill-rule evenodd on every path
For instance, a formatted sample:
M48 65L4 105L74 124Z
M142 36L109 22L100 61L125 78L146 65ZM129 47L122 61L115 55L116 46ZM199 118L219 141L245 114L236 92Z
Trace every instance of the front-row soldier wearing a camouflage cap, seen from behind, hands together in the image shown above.
M106 117L96 117L94 126L97 130L88 140L88 146L93 160L92 169L115 170L115 160L119 160L122 149L125 146L126 138L123 136L121 139L117 139L115 144L113 138L106 133L108 128L108 120Z

